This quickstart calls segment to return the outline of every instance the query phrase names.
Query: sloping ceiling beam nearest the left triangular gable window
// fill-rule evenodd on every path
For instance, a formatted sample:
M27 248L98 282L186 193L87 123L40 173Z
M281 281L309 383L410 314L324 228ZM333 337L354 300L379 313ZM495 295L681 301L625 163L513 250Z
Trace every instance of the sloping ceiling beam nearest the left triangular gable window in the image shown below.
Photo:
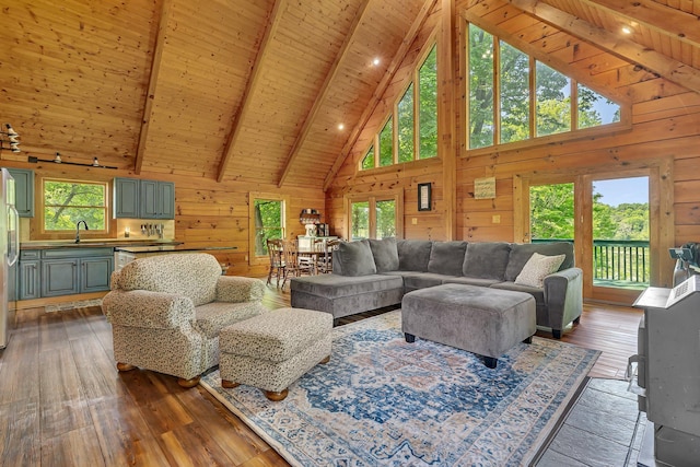
M346 141L346 144L343 145L342 151L340 152L340 155L338 156L338 159L336 159L336 162L332 164L332 167L330 167L330 171L326 175L326 178L324 180L324 191L328 189L334 177L336 176L336 174L338 173L342 164L346 162L346 159L348 159L348 155L350 154L350 151L352 151L354 143L358 141L358 138L360 138L360 133L362 132L362 129L368 124L368 120L370 119L370 117L374 113L374 109L381 102L382 96L384 95L384 92L386 91L386 89L392 82L392 79L398 71L398 67L401 65L401 61L404 61L404 58L410 50L411 44L413 44L416 36L421 30L423 23L425 22L425 19L428 17L428 14L433 9L436 1L438 0L427 0L423 3L423 7L421 8L421 10L418 12L418 15L416 16L416 21L413 21L413 24L411 24L411 27L408 30L408 32L404 36L404 40L401 42L400 47L398 48L397 52L394 55L394 59L387 67L386 72L384 73L384 77L382 77L382 80L380 81L376 89L374 90L374 94L372 94L372 98L370 100L366 107L364 108L364 112L362 113L360 120L358 120L358 125L355 125L355 127L352 129L352 132L348 137L348 141Z

